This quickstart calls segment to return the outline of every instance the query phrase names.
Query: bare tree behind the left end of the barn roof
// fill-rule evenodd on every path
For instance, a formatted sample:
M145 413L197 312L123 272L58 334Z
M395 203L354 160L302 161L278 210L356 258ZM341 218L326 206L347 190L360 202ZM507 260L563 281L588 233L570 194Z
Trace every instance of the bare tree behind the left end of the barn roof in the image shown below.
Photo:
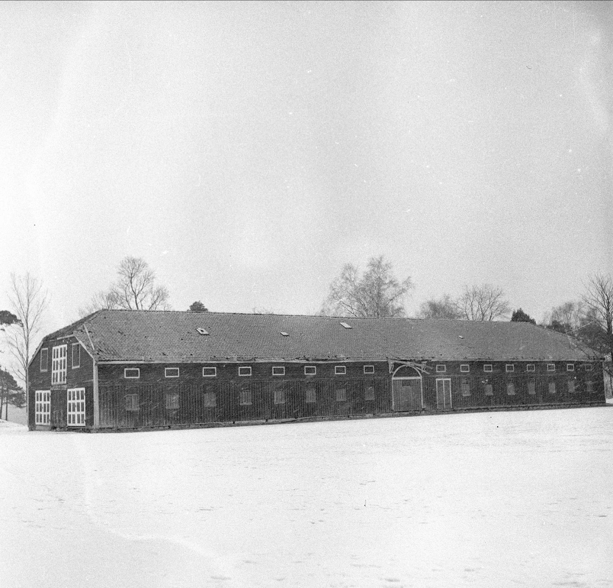
M109 290L98 292L80 311L82 316L101 309L127 311L166 311L169 293L156 284L155 272L142 257L124 257L117 270L118 279Z

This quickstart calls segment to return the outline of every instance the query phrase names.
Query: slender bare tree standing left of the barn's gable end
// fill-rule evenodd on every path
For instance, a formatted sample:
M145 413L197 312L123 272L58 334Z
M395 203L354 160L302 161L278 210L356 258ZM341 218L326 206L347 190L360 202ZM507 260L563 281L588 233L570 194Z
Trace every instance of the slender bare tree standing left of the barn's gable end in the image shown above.
M18 322L7 331L10 351L17 360L17 376L25 382L26 398L29 390L28 364L34 337L40 332L42 317L47 309L48 294L42 283L26 272L23 276L10 274L9 301Z

